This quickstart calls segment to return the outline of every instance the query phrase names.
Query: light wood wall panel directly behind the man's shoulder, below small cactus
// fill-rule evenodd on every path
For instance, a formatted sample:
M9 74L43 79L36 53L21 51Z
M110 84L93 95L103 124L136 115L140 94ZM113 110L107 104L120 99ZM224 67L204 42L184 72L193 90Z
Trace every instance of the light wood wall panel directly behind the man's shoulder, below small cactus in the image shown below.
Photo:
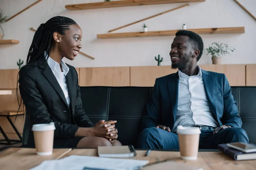
M155 79L176 73L171 66L142 66L131 67L131 86L153 87Z

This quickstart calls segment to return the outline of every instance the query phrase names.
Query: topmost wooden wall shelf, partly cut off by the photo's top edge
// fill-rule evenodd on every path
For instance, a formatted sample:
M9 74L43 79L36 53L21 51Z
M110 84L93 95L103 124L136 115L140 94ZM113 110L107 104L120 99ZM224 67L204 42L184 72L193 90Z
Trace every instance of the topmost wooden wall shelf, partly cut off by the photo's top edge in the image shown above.
M194 3L204 2L205 0L116 0L99 3L81 3L66 5L68 10L81 10L81 9L96 9L96 8L114 8L124 6L142 6L142 5L156 5L166 3Z

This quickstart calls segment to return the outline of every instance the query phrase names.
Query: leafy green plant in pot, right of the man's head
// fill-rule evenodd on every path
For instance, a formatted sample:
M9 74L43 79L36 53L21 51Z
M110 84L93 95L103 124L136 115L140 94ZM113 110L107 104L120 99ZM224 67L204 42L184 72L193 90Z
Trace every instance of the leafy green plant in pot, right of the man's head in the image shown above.
M207 55L212 55L212 64L220 64L221 57L226 54L230 54L235 50L235 48L229 47L224 43L212 42L212 44L209 45L209 48L206 48L206 50Z

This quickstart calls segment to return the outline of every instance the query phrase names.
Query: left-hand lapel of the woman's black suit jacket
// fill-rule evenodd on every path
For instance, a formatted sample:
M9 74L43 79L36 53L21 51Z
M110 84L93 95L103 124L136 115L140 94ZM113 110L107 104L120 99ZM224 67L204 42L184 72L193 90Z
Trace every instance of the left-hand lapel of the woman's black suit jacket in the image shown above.
M40 62L40 61L39 61ZM48 82L52 85L52 87L55 89L55 91L58 93L58 95L61 97L61 99L66 103L67 105L67 101L66 98L64 96L64 93L61 89L61 86L59 85L56 77L54 76L54 74L52 73L51 68L49 67L49 65L47 63L45 63L44 65L40 65L41 68L44 68L43 71L43 75L44 77L48 80ZM67 105L68 107L68 105Z

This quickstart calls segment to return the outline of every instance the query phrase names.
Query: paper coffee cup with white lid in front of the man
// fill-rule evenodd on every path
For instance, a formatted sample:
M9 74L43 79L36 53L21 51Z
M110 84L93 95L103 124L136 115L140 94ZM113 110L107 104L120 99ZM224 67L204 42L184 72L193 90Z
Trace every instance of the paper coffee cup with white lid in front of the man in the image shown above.
M180 145L180 156L186 160L196 160L198 157L199 138L201 130L199 127L177 127Z

